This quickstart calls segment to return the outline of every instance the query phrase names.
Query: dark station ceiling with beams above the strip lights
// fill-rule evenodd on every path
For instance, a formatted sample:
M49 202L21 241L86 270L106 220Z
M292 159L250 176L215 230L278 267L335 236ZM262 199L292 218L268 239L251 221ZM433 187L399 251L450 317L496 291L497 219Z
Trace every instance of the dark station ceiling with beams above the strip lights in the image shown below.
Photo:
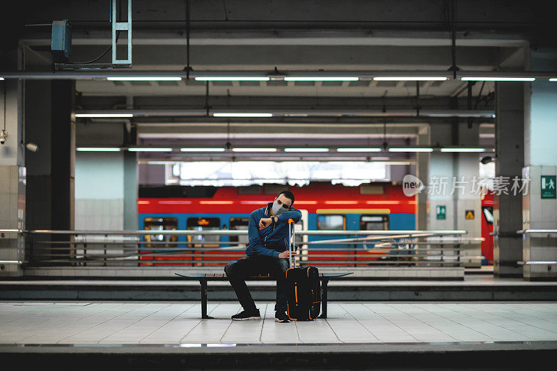
M124 1L125 3L126 1ZM132 3L134 71L522 71L528 48L551 43L554 28L536 1L187 1ZM72 22L72 61L88 61L111 42L109 1L62 1L17 13L13 37L26 70L49 70L53 20ZM24 6L19 4L20 7ZM452 35L455 48L452 48ZM6 40L5 40L6 41ZM7 42L7 41L6 41ZM124 47L124 46L122 46ZM105 57L108 62L110 54ZM104 61L104 59L99 62ZM494 109L494 83L449 81L107 81L76 83L78 109ZM419 94L418 94L419 90ZM469 100L471 96L472 100ZM276 125L315 144L414 141L423 125L448 118L282 118L216 120L142 117L89 120L97 129L132 125L151 143L205 141L223 136L261 141ZM457 119L462 121L464 119ZM492 119L473 120L492 143ZM454 120L452 121L455 122ZM107 126L109 125L109 126ZM386 129L386 127L388 127ZM232 128L232 129L231 129ZM284 130L283 130L284 131ZM101 138L102 136L98 136ZM481 135L480 135L481 137ZM339 137L340 138L340 137ZM246 142L247 143L247 142ZM480 142L481 143L481 142Z

